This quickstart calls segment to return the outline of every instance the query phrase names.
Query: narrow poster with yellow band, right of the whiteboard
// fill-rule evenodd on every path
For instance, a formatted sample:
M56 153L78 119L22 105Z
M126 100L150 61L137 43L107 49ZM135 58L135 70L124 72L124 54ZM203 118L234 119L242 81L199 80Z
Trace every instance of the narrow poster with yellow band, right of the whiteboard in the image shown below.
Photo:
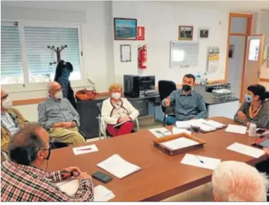
M219 47L208 47L208 72L216 72L219 69Z

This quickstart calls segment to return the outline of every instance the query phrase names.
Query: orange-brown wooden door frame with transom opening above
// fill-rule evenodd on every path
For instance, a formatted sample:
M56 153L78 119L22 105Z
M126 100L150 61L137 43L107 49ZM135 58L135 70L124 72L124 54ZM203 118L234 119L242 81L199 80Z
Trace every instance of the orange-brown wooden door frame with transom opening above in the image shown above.
M245 33L232 33L231 32L231 27L232 27L232 17L241 17L241 18L246 18L248 19L248 23L246 26L246 32ZM229 14L229 25L228 25L228 40L227 40L227 51L226 51L226 70L225 70L225 82L227 83L228 80L228 68L229 68L229 47L230 47L230 36L246 36L245 39L245 47L243 50L243 68L242 68L242 76L241 76L241 88L240 88L240 97L239 101L242 102L243 96L242 96L242 91L243 91L243 76L245 75L245 59L246 59L246 49L247 49L247 43L248 43L248 36L251 35L252 33L252 19L253 19L253 14L242 14L242 13L234 13L230 12Z

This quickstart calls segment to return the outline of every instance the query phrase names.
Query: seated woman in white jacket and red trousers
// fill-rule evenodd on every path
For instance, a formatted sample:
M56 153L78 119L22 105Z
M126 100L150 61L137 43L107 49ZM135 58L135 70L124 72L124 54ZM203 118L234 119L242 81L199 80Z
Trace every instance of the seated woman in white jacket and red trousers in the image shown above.
M122 87L119 83L112 83L109 91L111 97L103 101L101 110L106 130L113 137L128 134L134 127L132 120L139 116L139 111L126 98L121 98ZM122 124L114 127L119 123Z

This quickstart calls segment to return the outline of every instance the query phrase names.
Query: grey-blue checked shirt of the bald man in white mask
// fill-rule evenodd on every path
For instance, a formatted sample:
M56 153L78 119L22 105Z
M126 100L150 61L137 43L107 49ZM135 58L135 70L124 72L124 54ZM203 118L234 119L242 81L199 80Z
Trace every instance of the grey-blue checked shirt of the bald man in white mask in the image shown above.
M80 126L79 114L74 107L72 107L67 98L57 100L49 97L47 100L39 104L38 113L39 125L47 130L52 128L52 125L58 122L75 121L77 123L77 127Z

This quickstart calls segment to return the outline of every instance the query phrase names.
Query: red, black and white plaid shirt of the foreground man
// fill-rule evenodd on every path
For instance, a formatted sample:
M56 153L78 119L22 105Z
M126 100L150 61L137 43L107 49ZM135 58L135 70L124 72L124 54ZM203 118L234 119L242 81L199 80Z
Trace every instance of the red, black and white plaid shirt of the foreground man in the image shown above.
M59 171L46 173L34 166L6 161L1 163L2 202L90 202L93 184L89 179L80 181L77 193L67 195L53 183L61 182Z

